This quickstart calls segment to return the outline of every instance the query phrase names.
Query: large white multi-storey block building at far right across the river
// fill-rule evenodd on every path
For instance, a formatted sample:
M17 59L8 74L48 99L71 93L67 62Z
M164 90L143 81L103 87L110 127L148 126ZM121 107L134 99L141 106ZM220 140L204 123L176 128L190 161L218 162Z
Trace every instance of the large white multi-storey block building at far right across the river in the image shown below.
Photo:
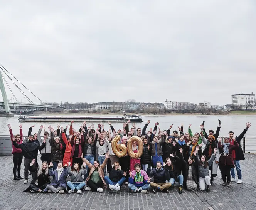
M255 108L255 94L234 94L231 95L232 98L232 105L233 106L240 106L241 109L248 108L250 104L254 104L253 108Z

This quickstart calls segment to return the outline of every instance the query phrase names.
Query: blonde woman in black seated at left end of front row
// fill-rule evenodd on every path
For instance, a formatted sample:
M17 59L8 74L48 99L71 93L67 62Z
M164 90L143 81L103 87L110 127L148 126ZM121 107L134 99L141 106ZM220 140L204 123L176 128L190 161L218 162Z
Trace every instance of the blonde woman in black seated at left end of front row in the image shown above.
M42 162L42 165L40 167L33 167L34 163L35 163L35 159L31 161L29 170L31 172L37 172L37 179L34 178L31 181L29 187L23 192L27 192L27 191L29 191L30 193L43 192L46 186L51 183L47 161ZM36 184L36 181L37 181L37 184Z

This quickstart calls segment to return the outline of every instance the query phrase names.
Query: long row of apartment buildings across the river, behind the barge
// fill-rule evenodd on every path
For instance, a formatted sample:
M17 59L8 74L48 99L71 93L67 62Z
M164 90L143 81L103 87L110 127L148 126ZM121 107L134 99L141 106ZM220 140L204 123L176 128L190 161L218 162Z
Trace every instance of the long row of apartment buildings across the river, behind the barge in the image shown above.
M139 102L99 102L92 104L92 110L143 110L145 108L164 109L163 103L139 103Z

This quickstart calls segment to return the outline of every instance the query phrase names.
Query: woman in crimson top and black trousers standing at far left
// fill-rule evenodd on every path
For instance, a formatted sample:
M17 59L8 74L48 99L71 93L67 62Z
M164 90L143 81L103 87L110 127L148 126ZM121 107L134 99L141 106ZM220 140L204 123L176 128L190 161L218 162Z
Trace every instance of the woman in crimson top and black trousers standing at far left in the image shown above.
M7 125L8 128L9 128L9 131L10 131L10 136L11 136L11 141L12 141L12 138L13 138L13 134L12 134L12 126L10 124ZM22 124L19 124L19 127L20 127L20 134L17 134L15 136L15 141L17 144L22 144L23 140L23 136L22 136ZM23 159L23 156L22 156L22 152L21 152L21 149L20 148L16 148L15 146L13 146L13 141L12 141L12 160L13 160L13 180L21 180L23 179L23 177L20 176L20 165L22 163L22 159ZM17 171L18 171L18 176L17 176Z

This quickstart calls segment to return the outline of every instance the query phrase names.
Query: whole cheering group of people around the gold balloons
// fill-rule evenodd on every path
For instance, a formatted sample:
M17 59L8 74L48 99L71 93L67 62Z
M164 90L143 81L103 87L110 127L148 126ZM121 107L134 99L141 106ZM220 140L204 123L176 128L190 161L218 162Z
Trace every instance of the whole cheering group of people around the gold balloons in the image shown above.
M223 186L229 187L232 181L236 181L234 168L237 171L237 183L242 183L240 160L244 160L244 154L240 141L251 126L250 123L246 123L246 128L239 136L230 131L223 143L222 138L218 138L220 120L215 134L213 130L207 134L204 122L200 125L200 132L194 134L191 124L185 133L183 124L178 126L179 134L177 130L171 134L173 124L163 131L158 127L157 132L159 123L155 123L153 129L146 131L150 120L143 129L136 128L135 123L129 129L128 120L123 124L123 129L117 131L110 122L108 131L103 124L98 124L98 128L94 129L94 124L87 127L86 122L76 131L73 123L71 121L66 128L58 124L57 130L48 126L49 132L40 126L34 135L31 134L34 126L31 126L25 142L22 124L19 125L20 134L15 136L8 124L13 144L13 179L23 179L20 175L23 157L24 183L28 182L29 171L32 173L33 179L24 192L65 193L66 190L68 193L81 194L82 190L103 192L103 188L119 191L125 183L130 192L148 193L151 186L153 193L157 193L168 192L174 187L175 181L179 183L180 194L183 189L197 192L199 188L210 192L218 168L221 170ZM133 141L132 151L135 156L129 156L127 152L118 157L113 150L117 145L111 143L118 136L118 144L126 147L129 139L137 136L143 142L143 147ZM142 155L136 155L141 150ZM38 151L41 153L41 166L37 163Z

